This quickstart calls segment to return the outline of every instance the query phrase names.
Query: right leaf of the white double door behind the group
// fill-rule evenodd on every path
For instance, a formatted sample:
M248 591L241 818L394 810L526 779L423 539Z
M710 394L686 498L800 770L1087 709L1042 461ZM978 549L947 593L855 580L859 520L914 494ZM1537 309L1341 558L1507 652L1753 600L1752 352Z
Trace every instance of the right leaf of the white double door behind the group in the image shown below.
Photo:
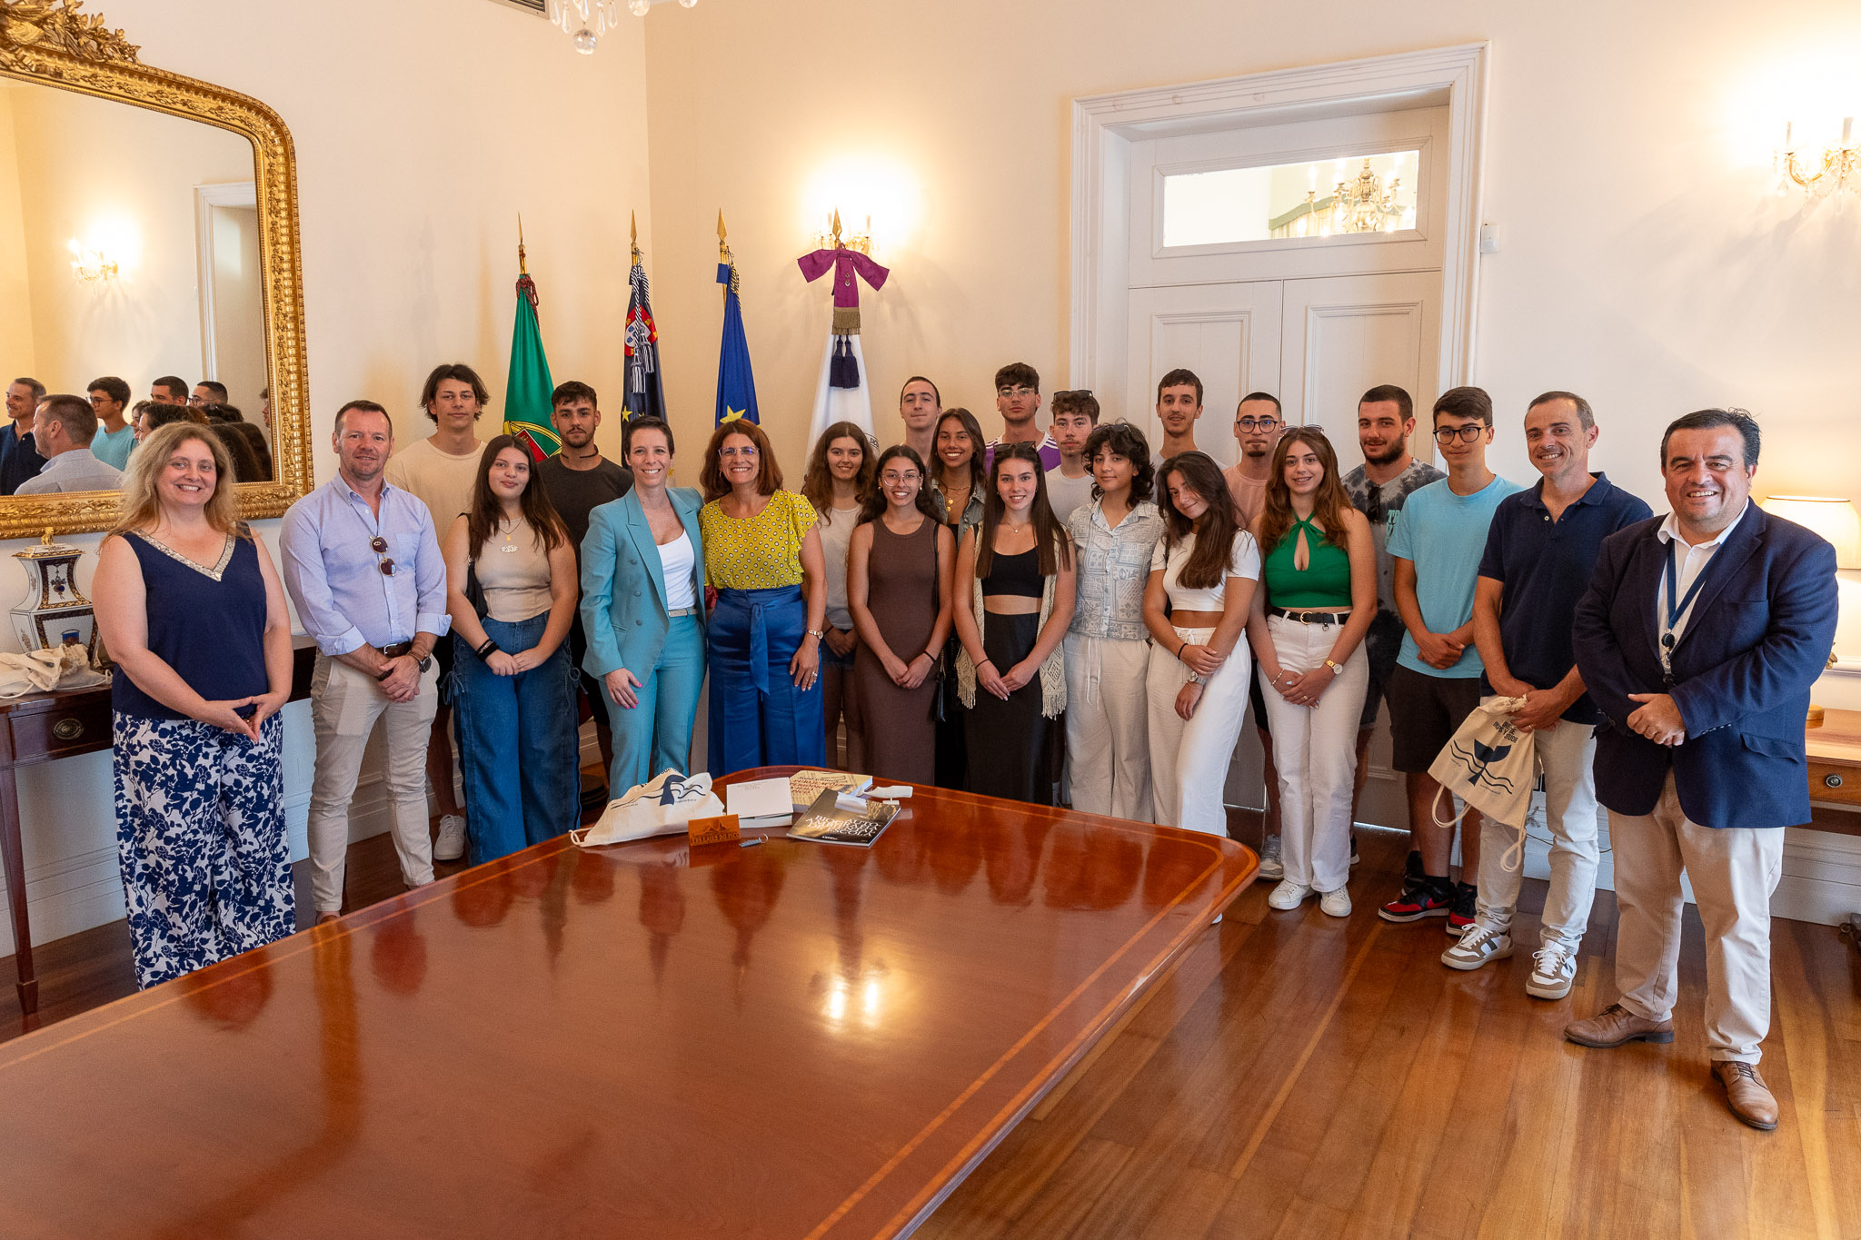
M1280 392L1288 424L1319 426L1338 450L1340 472L1362 465L1357 402L1394 383L1426 407L1440 392L1440 273L1340 275L1286 281L1280 327ZM1411 450L1433 459L1427 418L1416 418Z

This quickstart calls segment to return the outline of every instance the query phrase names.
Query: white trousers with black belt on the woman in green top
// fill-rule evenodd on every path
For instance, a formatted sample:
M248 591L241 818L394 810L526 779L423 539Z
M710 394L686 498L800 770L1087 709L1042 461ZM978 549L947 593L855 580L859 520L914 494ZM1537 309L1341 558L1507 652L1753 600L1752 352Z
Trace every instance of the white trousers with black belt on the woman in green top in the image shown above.
M1338 645L1338 625L1267 617L1280 673L1318 667ZM1286 881L1318 892L1351 877L1351 785L1357 777L1357 721L1370 692L1364 645L1312 706L1295 706L1271 684L1260 688L1273 732L1273 766L1280 781L1280 861Z

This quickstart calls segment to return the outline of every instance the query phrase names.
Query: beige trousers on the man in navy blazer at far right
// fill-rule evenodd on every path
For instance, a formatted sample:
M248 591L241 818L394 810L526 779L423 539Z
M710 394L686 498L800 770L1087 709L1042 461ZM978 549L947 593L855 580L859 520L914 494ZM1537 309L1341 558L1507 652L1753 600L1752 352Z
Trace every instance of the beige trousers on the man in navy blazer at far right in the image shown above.
M1703 827L1680 812L1673 772L1653 814L1610 811L1615 850L1615 985L1638 1017L1666 1021L1679 996L1680 870L1707 930L1707 1047L1757 1063L1770 1032L1770 896L1781 827Z

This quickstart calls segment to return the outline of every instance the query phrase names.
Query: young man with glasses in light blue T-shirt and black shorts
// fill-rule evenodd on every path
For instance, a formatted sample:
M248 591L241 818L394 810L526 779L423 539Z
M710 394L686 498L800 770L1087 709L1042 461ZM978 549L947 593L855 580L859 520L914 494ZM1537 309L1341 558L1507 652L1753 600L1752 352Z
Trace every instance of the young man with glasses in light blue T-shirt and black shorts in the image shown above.
M1435 825L1440 785L1427 768L1479 705L1474 586L1493 511L1522 487L1487 468L1493 398L1485 390L1442 392L1433 420L1448 476L1411 495L1388 517L1396 612L1407 630L1386 690L1390 766L1407 775L1409 831L1422 850L1422 877L1409 877L1381 917L1390 922L1446 917L1448 933L1459 935L1474 924L1478 892L1474 883L1457 885L1448 876L1453 827ZM1461 874L1479 874L1479 812L1472 807L1461 822Z

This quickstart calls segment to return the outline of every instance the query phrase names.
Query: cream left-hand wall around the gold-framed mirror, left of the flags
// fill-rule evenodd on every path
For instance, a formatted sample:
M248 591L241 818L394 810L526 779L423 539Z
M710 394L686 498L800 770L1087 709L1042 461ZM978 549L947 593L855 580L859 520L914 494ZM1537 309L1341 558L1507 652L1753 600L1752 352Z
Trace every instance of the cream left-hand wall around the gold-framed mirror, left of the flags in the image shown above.
M333 472L328 426L348 398L383 402L402 439L430 431L413 402L437 361L480 368L495 398L482 433L493 433L517 212L556 379L620 390L629 206L651 236L642 32L623 26L584 58L540 19L484 0L112 0L106 11L143 63L244 91L290 126L318 481ZM277 522L261 524L275 550ZM0 545L0 565L17 548ZM93 565L86 556L80 582ZM11 649L9 634L0 641ZM285 719L298 857L311 757L300 703ZM35 941L121 917L108 755L22 772L20 812Z

